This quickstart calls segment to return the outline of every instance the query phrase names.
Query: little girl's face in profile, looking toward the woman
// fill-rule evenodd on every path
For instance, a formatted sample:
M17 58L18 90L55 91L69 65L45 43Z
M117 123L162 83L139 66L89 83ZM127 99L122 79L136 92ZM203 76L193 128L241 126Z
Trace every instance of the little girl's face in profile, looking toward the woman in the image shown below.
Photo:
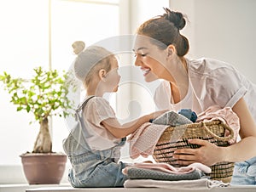
M119 76L119 65L116 58L111 59L111 70L108 72L106 76L106 82L108 82L108 91L109 92L117 92L120 82Z

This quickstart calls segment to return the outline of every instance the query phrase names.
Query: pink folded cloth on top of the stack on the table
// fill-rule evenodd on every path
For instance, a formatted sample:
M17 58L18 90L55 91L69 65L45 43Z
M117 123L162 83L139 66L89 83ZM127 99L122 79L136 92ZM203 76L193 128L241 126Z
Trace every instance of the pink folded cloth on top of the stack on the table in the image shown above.
M173 167L167 163L135 163L133 165L125 167L122 172L124 174L127 174L129 168L132 168L132 167L150 169L150 170L172 173L172 174L185 174L185 173L189 173L189 172L194 172L195 169L198 169L205 173L212 172L210 167L207 167L206 165L198 163L198 162L192 163L187 167Z

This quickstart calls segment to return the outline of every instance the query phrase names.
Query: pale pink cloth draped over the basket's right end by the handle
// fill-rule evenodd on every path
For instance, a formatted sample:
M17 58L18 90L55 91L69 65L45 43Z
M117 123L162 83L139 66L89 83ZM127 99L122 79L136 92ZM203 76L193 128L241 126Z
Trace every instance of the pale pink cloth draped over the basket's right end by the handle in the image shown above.
M218 105L213 105L207 110L198 114L196 122L212 120L224 121L227 126L233 129L234 138L232 138L229 143L235 144L240 129L239 117L236 115L236 113L230 107L221 108ZM227 131L225 133L225 137L228 137L229 135L230 132Z

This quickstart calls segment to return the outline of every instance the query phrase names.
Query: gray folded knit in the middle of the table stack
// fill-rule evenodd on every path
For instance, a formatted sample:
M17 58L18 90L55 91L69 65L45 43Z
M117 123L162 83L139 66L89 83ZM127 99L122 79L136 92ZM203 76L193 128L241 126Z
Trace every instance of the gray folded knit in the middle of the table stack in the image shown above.
M167 173L151 169L131 167L127 170L129 179L154 179L164 181L195 180L205 176L199 169L188 173Z

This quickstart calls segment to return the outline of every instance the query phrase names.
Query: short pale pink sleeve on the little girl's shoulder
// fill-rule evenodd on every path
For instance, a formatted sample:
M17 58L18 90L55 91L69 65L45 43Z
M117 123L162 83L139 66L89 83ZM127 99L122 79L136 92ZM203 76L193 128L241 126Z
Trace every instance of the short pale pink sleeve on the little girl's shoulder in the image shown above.
M85 118L95 123L97 127L101 126L101 122L108 118L116 118L113 108L106 99L94 97L88 102L86 107L87 116Z

